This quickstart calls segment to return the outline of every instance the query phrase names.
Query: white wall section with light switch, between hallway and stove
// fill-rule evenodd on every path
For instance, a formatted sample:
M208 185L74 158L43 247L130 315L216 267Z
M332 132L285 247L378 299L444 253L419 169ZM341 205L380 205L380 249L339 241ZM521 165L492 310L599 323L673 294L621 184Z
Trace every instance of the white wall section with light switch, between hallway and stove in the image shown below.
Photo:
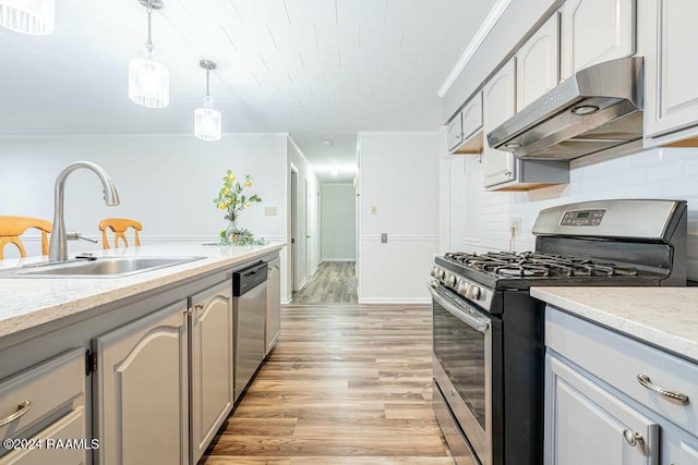
M359 147L359 302L428 303L438 249L438 133L362 132Z

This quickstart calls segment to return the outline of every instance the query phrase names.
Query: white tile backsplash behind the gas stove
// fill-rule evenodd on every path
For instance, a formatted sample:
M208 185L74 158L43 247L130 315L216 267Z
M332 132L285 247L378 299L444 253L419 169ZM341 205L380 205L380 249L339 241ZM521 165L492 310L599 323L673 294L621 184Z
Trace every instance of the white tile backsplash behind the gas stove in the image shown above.
M555 205L612 198L679 199L688 200L688 276L698 280L698 149L653 149L587 166L576 164L568 185L528 193L488 193L482 187L478 156L450 157L450 163L442 164L450 171L452 181L450 186L442 185L442 189L450 193L452 203L449 218L444 220L450 223L448 249L507 249L510 218L521 219L521 235L515 237L514 249L533 249L535 240L531 229L535 217L540 210ZM460 201L464 187L469 193ZM464 227L468 219L479 222L474 237Z

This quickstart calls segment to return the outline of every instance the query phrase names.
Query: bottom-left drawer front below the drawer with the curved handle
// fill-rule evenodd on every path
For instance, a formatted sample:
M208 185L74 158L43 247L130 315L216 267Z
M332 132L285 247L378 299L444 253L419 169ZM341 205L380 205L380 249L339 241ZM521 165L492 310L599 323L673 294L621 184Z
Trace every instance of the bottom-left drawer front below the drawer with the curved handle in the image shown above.
M71 440L72 446L67 445L65 440ZM98 445L87 439L85 435L85 408L83 406L28 439L27 444L32 444L33 449L15 450L0 458L0 465L85 464L89 449Z

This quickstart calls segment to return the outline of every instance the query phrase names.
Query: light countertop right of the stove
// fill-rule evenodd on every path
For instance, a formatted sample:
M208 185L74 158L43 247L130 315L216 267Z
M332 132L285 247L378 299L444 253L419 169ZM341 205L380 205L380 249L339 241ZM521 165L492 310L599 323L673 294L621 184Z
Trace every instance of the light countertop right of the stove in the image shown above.
M698 287L531 287L531 295L698 362Z

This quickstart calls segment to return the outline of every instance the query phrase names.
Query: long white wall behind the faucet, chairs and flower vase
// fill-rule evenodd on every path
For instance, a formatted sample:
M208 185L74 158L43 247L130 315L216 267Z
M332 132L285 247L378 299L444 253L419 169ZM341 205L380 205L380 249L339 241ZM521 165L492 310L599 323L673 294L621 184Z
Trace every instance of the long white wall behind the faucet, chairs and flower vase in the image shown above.
M121 205L106 207L97 176L75 171L65 186L68 229L99 237L99 220L128 217L143 222L144 244L217 241L227 221L213 199L230 168L239 176L251 174L250 192L263 200L242 211L240 225L286 241L286 133L229 133L216 143L189 134L5 137L0 139L0 215L52 220L56 175L72 161L88 160L111 175ZM264 216L264 207L276 207L277 215ZM27 253L40 254L37 241L26 243ZM69 252L95 247L101 245L69 243Z

